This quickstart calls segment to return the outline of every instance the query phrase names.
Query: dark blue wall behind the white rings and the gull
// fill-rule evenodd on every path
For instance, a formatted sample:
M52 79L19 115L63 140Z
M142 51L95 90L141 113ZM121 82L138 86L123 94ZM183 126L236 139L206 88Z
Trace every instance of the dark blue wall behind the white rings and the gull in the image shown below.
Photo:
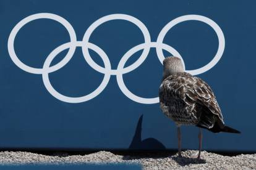
M211 70L198 75L216 94L228 126L242 134L213 134L203 131L203 149L256 151L255 136L255 1L0 1L0 147L66 149L165 149L177 148L176 126L161 113L159 103L145 105L122 94L116 76L106 89L92 100L66 103L45 89L40 75L17 67L9 57L7 39L12 28L28 15L49 12L64 17L77 39L93 22L109 14L128 14L148 28L151 41L161 29L181 15L197 14L214 20L224 33L226 46L221 60ZM15 52L23 63L43 67L48 54L69 42L64 26L40 19L20 29ZM137 26L124 20L100 25L90 42L101 47L115 69L122 55L143 43ZM184 59L186 69L206 65L218 49L215 31L205 23L189 21L174 26L164 37ZM54 63L64 57L61 52ZM134 54L126 65L138 59ZM103 66L100 57L90 51ZM165 52L168 56L168 52ZM131 92L141 97L156 97L161 83L162 65L151 48L139 68L124 75ZM77 47L69 63L49 74L61 94L78 97L92 92L103 79L83 59ZM182 148L198 147L198 129L182 126Z

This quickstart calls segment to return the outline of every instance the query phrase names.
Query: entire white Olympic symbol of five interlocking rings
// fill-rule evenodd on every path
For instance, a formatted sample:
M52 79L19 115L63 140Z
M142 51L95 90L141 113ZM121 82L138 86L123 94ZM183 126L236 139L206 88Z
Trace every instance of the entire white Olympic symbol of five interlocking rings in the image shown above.
M19 60L19 58L17 57L17 55L14 51L14 40L15 40L15 36L19 32L20 28L22 28L28 22L31 22L33 20L37 20L40 18L48 18L51 20L56 20L57 22L61 23L67 29L67 31L69 33L70 42L66 42L66 43L60 45L59 47L56 47L56 49L54 49L46 58L43 68L34 68L34 67L30 67L28 65L25 65L24 63L22 63ZM127 51L126 54L124 54L122 56L121 60L118 63L116 70L113 70L111 68L111 63L109 61L108 55L106 55L106 53L100 47L89 42L90 36L93 33L93 31L96 28L98 28L98 26L100 26L102 23L108 22L110 20L126 20L128 22L133 23L134 25L138 26L139 29L142 31L142 34L143 34L143 37L145 40L145 42L143 42L142 44L132 47L132 49ZM220 26L218 26L210 18L204 17L202 15L183 15L181 17L175 18L174 20L169 22L166 26L164 26L163 30L160 31L157 41L151 42L150 33L148 32L147 27L137 18L132 17L130 15L126 15L126 14L106 15L105 17L102 17L102 18L96 20L96 22L92 23L92 25L89 26L87 31L85 31L82 41L77 41L75 31L74 31L74 28L72 27L72 25L70 25L70 23L67 22L67 20L60 17L59 15L50 14L50 13L34 14L34 15L30 15L30 16L24 18L19 23L17 23L17 25L14 26L14 28L12 29L11 34L9 36L9 39L8 39L8 51L9 51L9 55L10 55L12 61L15 63L15 65L17 65L17 67L19 67L20 69L22 69L24 71L27 71L28 73L42 75L43 83L45 84L47 91L51 95L53 95L53 97L55 97L56 99L59 99L63 102L80 103L80 102L86 102L88 100L93 99L94 97L99 95L105 89L105 87L108 85L111 75L116 75L117 84L118 84L119 88L121 89L122 93L124 95L126 95L129 99L134 100L135 102L138 102L138 103L153 104L153 103L159 102L159 97L143 98L143 97L139 97L139 96L133 94L132 92L129 91L129 89L127 89L126 84L124 83L124 80L122 78L122 75L129 73L130 71L133 71L136 68L138 68L144 62L144 60L147 59L147 56L148 56L148 53L149 53L151 47L156 48L156 53L157 53L158 59L160 60L161 63L163 63L163 60L164 60L164 55L163 55L163 49L164 49L165 51L168 51L172 55L179 57L182 60L182 64L184 65L184 68L185 68L184 60L182 59L179 52L177 52L173 47L169 46L168 44L164 44L163 39L164 39L164 36L166 35L166 33L171 28L173 28L173 26L177 25L178 23L185 22L188 20L197 20L200 22L207 23L209 26L211 26L211 28L213 28L213 30L215 30L215 32L218 36L218 41L219 41L218 51L216 52L215 57L213 57L213 59L211 60L210 63L203 66L202 68L198 68L195 70L186 70L187 72L189 72L192 75L198 75L198 74L204 73L205 71L210 70L212 67L214 67L216 65L216 63L218 63L218 61L221 59L221 56L223 55L224 47L225 47L224 34L223 34ZM95 91L93 91L92 93L84 95L82 97L68 97L66 95L60 94L58 91L56 91L56 89L54 89L54 87L51 85L51 83L49 81L49 73L57 71L57 70L61 69L62 67L64 67L64 65L66 65L70 59L72 59L76 47L82 47L83 56L85 58L85 61L88 63L88 65L90 65L90 67L92 67L94 70L96 70L100 73L103 73L105 76L104 76L103 81L101 82L100 86L97 87L95 89ZM64 51L65 49L69 49L69 51L67 52L66 56L61 60L61 62L56 63L56 65L50 66L51 62L54 60L54 58L60 52ZM101 67L100 65L98 65L96 62L93 61L92 57L89 54L88 49L92 49L101 57L105 67ZM135 52L140 51L140 50L143 50L143 52L140 55L139 59L137 61L135 61L134 63L132 63L131 65L129 65L128 67L124 67L127 60L129 60L129 58L133 54L135 54Z

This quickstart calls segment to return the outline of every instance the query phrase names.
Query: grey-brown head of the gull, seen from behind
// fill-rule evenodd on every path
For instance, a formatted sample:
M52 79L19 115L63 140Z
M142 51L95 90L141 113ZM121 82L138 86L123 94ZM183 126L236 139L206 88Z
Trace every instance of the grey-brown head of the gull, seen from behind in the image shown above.
M163 76L165 78L173 73L182 73L185 71L181 59L173 56L166 57L163 60L163 68Z

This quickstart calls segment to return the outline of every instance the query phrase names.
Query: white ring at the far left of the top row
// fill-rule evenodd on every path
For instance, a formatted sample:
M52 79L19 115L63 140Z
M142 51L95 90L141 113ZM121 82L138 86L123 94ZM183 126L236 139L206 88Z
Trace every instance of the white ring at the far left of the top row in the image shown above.
M34 15L30 15L26 18L23 18L23 20L21 20L19 23L17 23L17 25L15 25L11 31L11 34L8 39L8 51L9 51L9 55L10 55L12 61L15 63L15 65L17 65L17 67L21 68L24 71L27 71L28 73L33 73L33 74L41 74L41 73L43 73L43 69L30 67L20 61L20 59L17 57L17 55L15 54L15 51L14 51L14 39L15 39L15 36L17 35L17 33L19 32L20 28L22 28L25 24L27 24L28 22L31 22L33 20L37 20L37 19L41 19L41 18L48 18L48 19L55 20L56 22L61 23L63 26L65 26L65 28L69 32L70 42L77 41L77 38L75 35L75 30L72 27L72 25L70 25L70 23L67 22L67 20L60 17L59 15L50 14L50 13L39 13L39 14L34 14ZM67 52L67 55L64 57L64 59L62 59L61 62L57 63L56 65L53 65L52 67L50 67L48 71L53 72L53 71L59 70L59 68L62 68L64 65L66 65L67 62L69 62L69 60L74 55L74 52L75 52L75 45L71 43L69 52Z

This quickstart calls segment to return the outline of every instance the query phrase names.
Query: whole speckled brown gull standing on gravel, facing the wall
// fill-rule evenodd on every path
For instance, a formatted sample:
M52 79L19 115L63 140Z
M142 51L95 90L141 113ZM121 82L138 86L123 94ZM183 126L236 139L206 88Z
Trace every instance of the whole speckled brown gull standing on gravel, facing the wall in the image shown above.
M220 106L211 87L203 79L184 70L181 59L166 57L163 60L163 79L159 88L160 108L177 126L178 155L181 156L181 126L199 128L198 156L202 150L202 128L208 131L241 132L226 126Z

